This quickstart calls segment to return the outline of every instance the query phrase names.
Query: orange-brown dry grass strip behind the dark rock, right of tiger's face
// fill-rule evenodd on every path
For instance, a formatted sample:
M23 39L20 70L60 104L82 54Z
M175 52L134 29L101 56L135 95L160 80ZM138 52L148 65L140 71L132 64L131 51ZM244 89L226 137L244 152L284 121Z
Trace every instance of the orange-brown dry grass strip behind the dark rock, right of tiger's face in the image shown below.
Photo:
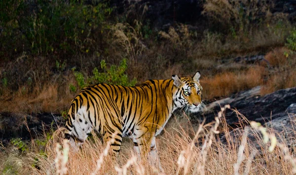
M295 53L285 47L275 48L254 65L230 63L222 68L221 73L202 77L203 96L205 99L225 97L256 86L262 86L260 93L264 95L296 87L295 66Z

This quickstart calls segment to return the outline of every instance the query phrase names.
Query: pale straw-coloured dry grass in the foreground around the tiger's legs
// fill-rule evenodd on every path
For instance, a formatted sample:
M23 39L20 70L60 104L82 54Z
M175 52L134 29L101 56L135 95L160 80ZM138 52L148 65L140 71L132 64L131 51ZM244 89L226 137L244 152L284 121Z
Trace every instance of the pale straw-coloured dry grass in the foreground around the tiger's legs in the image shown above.
M240 114L239 116L243 117ZM292 174L292 170L296 168L293 167L294 154L287 149L285 141L279 141L275 149L270 151L256 129L237 130L234 137L230 134L230 128L225 123L222 113L219 113L214 123L215 125L213 123L191 125L186 117L173 118L168 123L164 133L157 137L160 162L165 174ZM219 123L221 123L220 127L218 127ZM292 124L295 125L294 122ZM224 143L216 137L219 132L225 135ZM57 130L53 139L48 142L45 147L46 156L38 153L36 146L32 149L33 151L22 155L15 153L15 150L0 152L1 172L9 163L17 172L24 175L53 175L57 174L57 171L59 171L58 174L67 171L70 175L88 175L93 172L108 175L160 174L158 169L151 167L148 161L137 160L133 152L133 144L128 139L124 139L121 152L115 161L107 153L110 147L102 144L96 135L78 152L70 149L68 160L67 143L64 143L64 146L57 146L58 143L60 145L63 143L61 133L62 129ZM268 128L268 133L271 133L268 137L273 134L281 135L281 133L274 133L272 128ZM249 136L255 137L259 150L253 145L254 142L251 142ZM34 145L36 144L32 144L33 148ZM63 163L64 166L62 166Z

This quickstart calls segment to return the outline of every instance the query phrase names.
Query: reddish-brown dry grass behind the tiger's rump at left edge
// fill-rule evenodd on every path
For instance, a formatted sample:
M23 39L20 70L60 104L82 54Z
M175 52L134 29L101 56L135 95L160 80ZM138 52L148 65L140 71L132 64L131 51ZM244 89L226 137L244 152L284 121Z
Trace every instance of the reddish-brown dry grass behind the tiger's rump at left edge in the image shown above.
M1 96L4 101L1 105L2 112L13 113L60 113L68 109L68 105L76 92L71 92L70 84L75 84L73 75L63 75L63 83L53 78L43 85L22 86L11 94L11 90Z

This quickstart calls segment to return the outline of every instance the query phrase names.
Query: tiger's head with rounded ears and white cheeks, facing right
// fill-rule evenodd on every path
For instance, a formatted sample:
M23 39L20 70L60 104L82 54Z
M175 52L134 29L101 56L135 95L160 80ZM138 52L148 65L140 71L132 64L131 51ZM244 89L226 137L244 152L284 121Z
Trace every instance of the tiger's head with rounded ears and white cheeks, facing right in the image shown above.
M198 112L204 107L201 101L202 87L199 84L200 72L193 77L182 77L173 75L174 86L177 87L174 93L174 103L177 108L184 108L185 112Z

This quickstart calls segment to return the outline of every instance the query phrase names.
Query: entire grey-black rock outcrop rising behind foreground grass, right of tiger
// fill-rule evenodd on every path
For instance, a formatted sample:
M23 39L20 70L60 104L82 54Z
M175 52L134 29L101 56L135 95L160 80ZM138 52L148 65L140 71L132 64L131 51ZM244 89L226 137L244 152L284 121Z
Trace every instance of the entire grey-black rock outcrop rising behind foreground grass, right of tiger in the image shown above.
M296 141L291 138L296 137L296 87L281 89L264 96L260 96L259 92L260 87L254 87L251 90L239 92L231 97L210 103L207 105L208 113L204 117L206 117L207 122L213 121L214 117L218 116L221 107L229 104L231 109L236 109L249 121L257 121L269 129L272 128L277 139L286 142L289 147L295 146ZM230 128L233 128L230 131L231 142L238 142L239 145L243 132L239 120L243 117L226 109L225 119ZM247 121L241 123L248 125ZM260 149L264 144L261 139L254 137L254 135L260 136L260 133L256 130L249 133L249 143ZM220 140L226 143L223 134L220 135Z

